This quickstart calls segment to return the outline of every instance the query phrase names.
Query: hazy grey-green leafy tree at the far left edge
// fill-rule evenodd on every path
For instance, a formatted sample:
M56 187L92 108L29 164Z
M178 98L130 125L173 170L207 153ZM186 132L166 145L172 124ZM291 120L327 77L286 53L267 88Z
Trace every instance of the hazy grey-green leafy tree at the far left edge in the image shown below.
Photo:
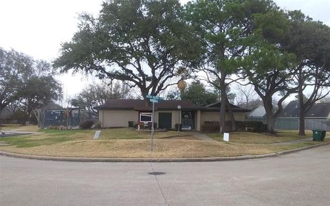
M61 84L49 63L0 48L0 113L6 106L16 104L14 107L29 118L34 108L59 98Z

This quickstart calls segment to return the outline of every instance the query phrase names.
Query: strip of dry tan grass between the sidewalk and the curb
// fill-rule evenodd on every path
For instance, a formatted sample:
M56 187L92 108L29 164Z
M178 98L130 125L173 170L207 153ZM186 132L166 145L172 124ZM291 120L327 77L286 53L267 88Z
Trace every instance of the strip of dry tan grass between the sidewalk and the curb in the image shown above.
M28 148L2 146L0 150L29 155L60 157L231 157L261 155L302 146L318 144L226 144L188 139L155 139L150 152L149 139L113 139L65 141L58 144Z

